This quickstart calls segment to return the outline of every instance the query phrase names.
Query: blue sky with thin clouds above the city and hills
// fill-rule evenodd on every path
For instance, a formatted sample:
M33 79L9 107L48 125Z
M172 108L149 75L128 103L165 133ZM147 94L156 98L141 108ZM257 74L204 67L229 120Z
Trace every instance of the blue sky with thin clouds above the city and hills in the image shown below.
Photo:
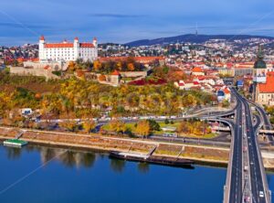
M126 43L199 34L274 37L273 0L0 0L0 45Z

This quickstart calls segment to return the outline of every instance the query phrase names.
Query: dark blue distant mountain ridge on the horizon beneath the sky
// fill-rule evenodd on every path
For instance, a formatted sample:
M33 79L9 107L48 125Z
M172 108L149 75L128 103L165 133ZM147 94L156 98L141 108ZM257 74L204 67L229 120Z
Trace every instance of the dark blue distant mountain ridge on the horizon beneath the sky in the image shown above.
M210 39L226 39L226 40L239 40L239 39L250 39L250 38L266 38L274 39L274 37L266 36L251 36L251 35L194 35L187 34L175 37L162 37L155 39L142 39L137 41L132 41L126 43L125 45L130 47L139 47L139 46L151 46L156 44L163 43L176 43L176 42L190 42L190 43L204 43Z

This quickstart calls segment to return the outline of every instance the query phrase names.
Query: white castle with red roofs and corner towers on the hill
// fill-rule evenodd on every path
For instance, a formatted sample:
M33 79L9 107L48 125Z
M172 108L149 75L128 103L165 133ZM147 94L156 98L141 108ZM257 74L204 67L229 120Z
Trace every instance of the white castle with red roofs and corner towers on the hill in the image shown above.
M98 43L94 37L92 43L79 42L75 37L73 43L64 40L61 43L46 43L44 36L39 40L39 60L40 62L48 61L94 61L98 58Z

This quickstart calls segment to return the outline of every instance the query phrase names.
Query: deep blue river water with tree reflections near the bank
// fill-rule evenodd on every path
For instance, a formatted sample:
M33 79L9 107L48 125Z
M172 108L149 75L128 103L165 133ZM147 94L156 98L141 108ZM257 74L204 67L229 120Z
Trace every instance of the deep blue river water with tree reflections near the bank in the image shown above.
M0 202L222 202L227 170L145 165L108 155L0 145ZM274 190L274 176L268 176Z

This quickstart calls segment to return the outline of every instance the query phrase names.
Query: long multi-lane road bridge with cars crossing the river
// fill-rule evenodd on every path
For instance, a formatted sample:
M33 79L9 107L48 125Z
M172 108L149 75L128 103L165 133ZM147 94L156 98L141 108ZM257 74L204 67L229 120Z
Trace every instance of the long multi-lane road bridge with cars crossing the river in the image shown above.
M248 101L232 89L237 98L236 125L224 187L224 203L270 203L271 194L254 129Z

